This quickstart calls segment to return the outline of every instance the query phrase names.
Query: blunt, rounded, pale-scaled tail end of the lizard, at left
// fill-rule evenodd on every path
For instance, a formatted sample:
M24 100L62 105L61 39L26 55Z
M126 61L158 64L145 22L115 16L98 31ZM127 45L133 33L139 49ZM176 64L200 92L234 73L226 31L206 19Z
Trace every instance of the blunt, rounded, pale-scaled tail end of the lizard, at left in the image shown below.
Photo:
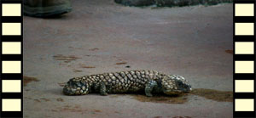
M67 81L63 88L63 93L66 95L84 95L89 93L89 86L85 81L73 78Z

